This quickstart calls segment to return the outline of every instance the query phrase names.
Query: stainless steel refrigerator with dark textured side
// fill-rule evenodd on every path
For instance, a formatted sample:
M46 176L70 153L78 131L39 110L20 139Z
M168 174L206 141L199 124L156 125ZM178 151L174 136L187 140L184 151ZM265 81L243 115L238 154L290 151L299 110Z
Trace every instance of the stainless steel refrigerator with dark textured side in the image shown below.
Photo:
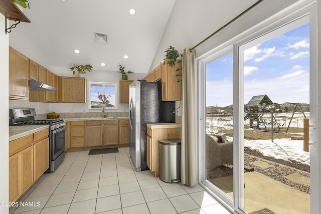
M147 123L174 123L175 102L162 101L161 82L135 80L129 85L129 153L136 171L146 164Z

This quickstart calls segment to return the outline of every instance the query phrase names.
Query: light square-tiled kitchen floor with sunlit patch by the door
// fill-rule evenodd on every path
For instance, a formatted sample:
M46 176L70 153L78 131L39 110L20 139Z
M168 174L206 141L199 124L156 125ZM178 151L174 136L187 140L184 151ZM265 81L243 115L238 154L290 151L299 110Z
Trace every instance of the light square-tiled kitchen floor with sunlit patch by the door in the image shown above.
M20 198L29 206L10 213L231 213L199 184L166 183L150 171L133 170L129 148L88 155L68 152L59 168ZM33 203L34 202L34 203Z

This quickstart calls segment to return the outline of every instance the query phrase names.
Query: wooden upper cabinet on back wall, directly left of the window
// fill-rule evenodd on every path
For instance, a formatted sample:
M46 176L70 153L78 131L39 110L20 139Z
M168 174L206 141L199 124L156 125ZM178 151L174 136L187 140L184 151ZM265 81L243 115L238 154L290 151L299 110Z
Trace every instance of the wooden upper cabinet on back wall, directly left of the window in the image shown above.
M86 103L86 84L85 78L59 77L58 102Z

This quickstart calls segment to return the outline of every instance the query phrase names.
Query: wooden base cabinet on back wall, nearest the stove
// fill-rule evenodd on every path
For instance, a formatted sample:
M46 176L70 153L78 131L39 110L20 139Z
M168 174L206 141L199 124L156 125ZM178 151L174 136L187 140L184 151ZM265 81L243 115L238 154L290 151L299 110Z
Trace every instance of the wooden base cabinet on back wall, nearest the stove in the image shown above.
M70 147L85 147L85 121L70 121Z

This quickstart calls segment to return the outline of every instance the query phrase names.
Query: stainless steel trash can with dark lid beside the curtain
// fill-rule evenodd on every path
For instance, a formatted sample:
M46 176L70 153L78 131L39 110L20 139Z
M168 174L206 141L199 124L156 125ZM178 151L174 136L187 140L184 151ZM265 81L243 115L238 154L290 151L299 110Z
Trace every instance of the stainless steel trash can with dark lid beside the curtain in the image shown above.
M159 178L167 183L181 181L181 139L158 140Z

